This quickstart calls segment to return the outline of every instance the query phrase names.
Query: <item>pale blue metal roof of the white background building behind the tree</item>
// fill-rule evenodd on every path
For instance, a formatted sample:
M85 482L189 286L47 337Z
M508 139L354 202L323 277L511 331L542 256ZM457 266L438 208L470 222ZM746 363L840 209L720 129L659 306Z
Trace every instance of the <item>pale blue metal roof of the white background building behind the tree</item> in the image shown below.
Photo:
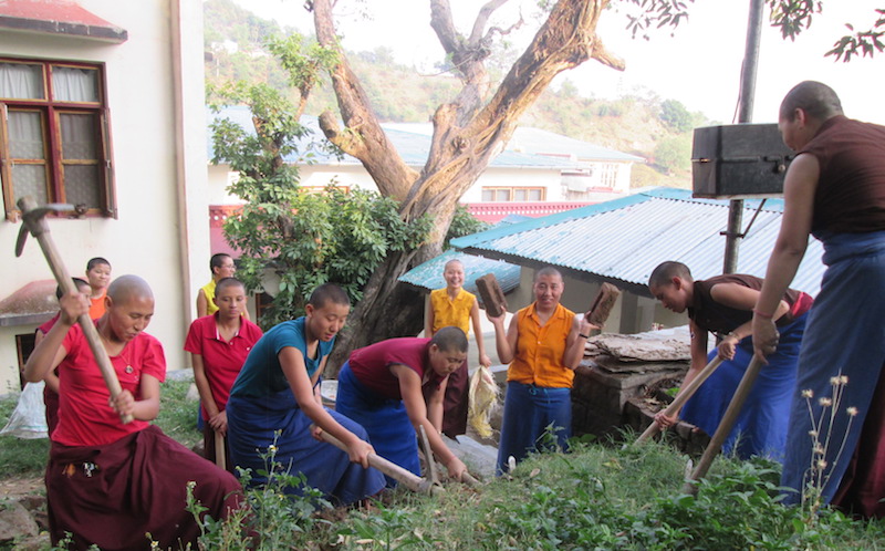
M212 121L218 118L228 118L238 124L247 133L252 135L254 134L252 115L249 111L249 107L241 105L225 107L219 113L215 113L211 108L207 107L207 126L211 124ZM301 124L308 128L311 128L312 135L306 136L299 143L298 155L289 155L285 157L287 163L303 163L304 160L302 157L306 153L310 153L312 154L311 164L360 165L360 160L350 155L345 154L342 157L339 157L322 148L311 146L311 142L325 139L323 133L320 131L316 117L302 116ZM425 163L427 163L427 156L430 154L430 136L421 133L399 129L398 126L393 128L384 126L384 132L406 165L420 168L425 165ZM211 159L214 155L214 147L210 131L207 132L207 142L208 155ZM577 168L581 165L577 162L568 158L503 150L491 160L489 166L498 168L543 168L549 170L562 170Z

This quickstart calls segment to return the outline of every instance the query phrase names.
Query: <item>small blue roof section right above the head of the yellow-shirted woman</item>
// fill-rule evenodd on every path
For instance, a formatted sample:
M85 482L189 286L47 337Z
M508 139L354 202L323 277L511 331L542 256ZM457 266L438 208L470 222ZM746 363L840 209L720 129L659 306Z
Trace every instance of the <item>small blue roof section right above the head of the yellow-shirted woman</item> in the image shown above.
M476 257L472 254L465 254L456 250L449 250L442 254L428 260L427 262L417 266L404 273L397 281L410 283L415 287L431 291L434 289L442 289L446 287L446 280L442 279L442 270L446 262L449 260L460 260L464 264L464 288L471 292L477 292L475 281L481 276L493 273L501 285L501 290L506 293L512 291L519 285L520 267L504 262L502 260L493 260L490 258Z

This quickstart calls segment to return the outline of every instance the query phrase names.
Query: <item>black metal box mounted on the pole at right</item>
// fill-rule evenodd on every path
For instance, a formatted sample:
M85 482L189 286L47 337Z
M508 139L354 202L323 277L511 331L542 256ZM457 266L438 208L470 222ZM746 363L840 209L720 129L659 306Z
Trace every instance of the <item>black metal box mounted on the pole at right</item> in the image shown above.
M777 124L731 124L695 128L691 184L695 197L772 197L794 157Z

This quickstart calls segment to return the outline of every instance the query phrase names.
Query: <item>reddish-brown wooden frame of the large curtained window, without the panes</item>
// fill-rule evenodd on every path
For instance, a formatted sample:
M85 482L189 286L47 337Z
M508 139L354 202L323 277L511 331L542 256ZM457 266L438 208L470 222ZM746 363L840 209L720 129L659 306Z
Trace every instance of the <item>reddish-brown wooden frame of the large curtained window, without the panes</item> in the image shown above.
M65 166L84 165L82 160L64 159L61 116L66 114L90 114L95 116L95 160L90 163L97 166L96 183L98 200L96 206L77 209L76 216L83 217L111 217L117 218L116 191L114 183L113 150L111 147L111 125L107 108L107 90L104 63L85 63L63 60L41 60L0 58L0 63L21 63L40 65L42 67L43 97L8 98L0 97L0 183L2 183L2 197L6 217L15 221L20 217L14 201L14 187L12 183L12 165L9 150L9 112L34 111L41 114L41 131L43 133L44 157L46 166L46 197L49 202L65 202L66 190L64 181ZM95 71L97 77L97 102L73 102L54 100L52 86L52 71L54 67L74 67ZM65 214L64 216L70 216Z

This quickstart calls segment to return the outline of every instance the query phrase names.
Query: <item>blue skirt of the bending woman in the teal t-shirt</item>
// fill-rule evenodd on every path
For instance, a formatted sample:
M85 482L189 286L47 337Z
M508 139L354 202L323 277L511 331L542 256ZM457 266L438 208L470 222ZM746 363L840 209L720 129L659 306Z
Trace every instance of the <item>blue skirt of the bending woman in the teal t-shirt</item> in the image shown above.
M335 412L329 410L344 428L367 440L366 432ZM261 455L277 446L273 460L291 475L302 472L306 485L319 489L336 505L348 505L384 488L383 475L373 468L351 462L346 453L311 436L311 419L299 408L292 391L256 398L231 396L227 405L228 445L235 465L252 470L252 484L260 485L269 465ZM279 433L279 434L278 434ZM300 493L299 488L287 488Z

